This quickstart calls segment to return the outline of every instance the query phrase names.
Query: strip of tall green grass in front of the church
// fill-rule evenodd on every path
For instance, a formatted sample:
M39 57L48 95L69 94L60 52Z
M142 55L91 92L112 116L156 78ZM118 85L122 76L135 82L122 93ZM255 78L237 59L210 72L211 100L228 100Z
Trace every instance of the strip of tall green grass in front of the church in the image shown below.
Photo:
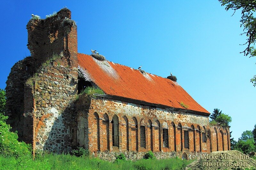
M138 161L117 161L109 162L98 158L76 157L71 155L44 154L37 156L35 160L32 158L13 158L3 157L0 155L1 169L37 169L37 170L54 170L54 169L100 169L100 170L168 170L168 169L184 169L191 161L184 161L179 158L171 159L140 159Z

